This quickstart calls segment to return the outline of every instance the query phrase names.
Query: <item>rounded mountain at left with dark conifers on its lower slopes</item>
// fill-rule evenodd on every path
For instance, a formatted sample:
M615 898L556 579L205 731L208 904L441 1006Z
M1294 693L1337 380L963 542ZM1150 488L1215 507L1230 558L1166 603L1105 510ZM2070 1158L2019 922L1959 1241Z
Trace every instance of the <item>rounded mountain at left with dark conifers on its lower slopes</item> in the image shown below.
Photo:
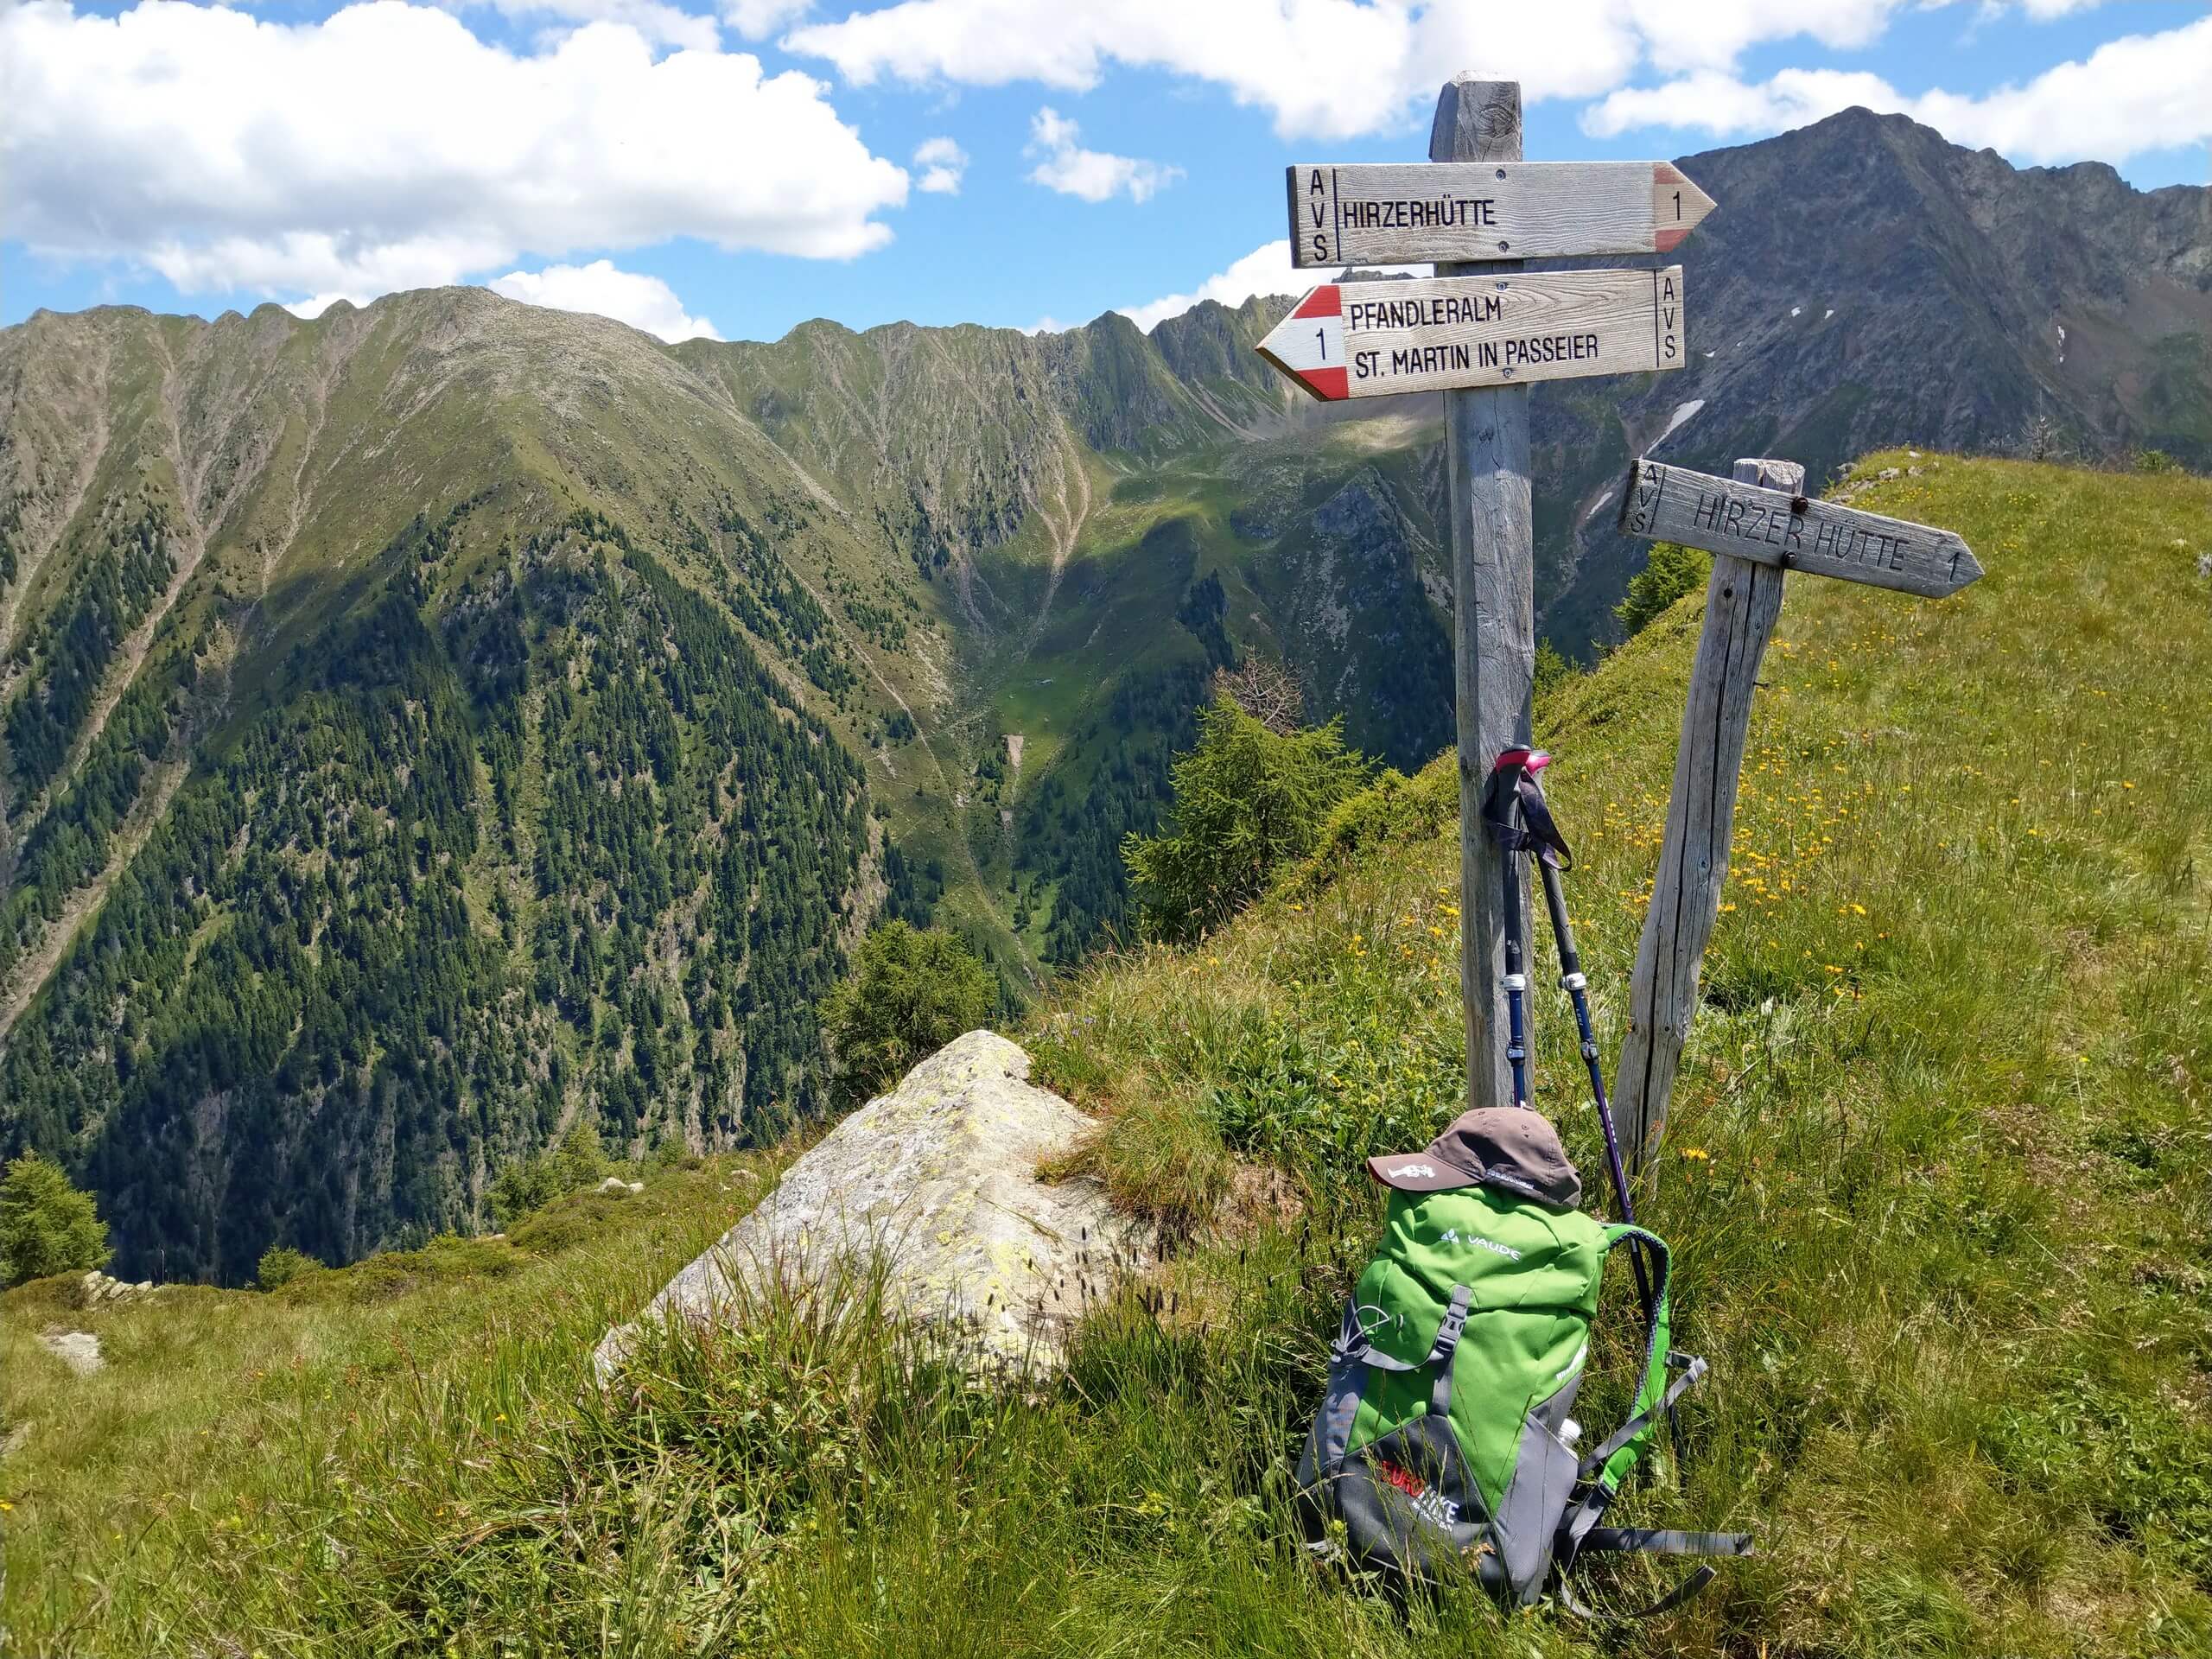
M577 1113L728 1141L818 1088L927 617L666 352L487 299L11 341L13 409L97 418L9 427L0 1095L131 1270L354 1256Z

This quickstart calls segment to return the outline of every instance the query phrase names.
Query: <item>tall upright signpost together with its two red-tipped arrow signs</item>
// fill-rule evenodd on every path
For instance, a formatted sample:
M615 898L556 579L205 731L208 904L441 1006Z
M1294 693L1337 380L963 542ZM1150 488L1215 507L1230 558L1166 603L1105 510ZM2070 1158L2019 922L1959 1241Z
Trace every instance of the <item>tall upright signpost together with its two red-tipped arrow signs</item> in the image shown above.
M1686 358L1681 265L1524 274L1522 261L1670 252L1712 197L1668 161L1522 161L1520 82L1475 75L1438 97L1427 164L1298 164L1285 184L1296 265L1438 261L1433 279L1310 290L1259 352L1316 398L1444 394L1467 1102L1504 1106L1504 867L1482 790L1498 752L1528 741L1528 385Z

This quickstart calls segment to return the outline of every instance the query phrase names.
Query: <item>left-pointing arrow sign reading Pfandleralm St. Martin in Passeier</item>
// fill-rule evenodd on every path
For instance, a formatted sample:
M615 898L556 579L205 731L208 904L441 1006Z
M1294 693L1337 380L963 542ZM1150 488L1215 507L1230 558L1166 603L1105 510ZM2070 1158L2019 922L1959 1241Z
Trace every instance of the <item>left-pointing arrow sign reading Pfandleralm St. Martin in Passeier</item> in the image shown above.
M1259 354L1323 400L1679 369L1681 265L1323 283Z

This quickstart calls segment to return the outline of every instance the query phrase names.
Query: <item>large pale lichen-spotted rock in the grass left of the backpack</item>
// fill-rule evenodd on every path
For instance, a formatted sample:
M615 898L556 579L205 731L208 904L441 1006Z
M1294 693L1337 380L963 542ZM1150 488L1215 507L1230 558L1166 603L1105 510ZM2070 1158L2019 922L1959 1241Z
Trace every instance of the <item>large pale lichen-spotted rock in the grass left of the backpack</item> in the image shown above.
M1086 1121L1029 1084L1022 1048L969 1031L838 1124L639 1321L611 1329L593 1354L599 1380L628 1358L641 1323L734 1318L750 1294L849 1283L878 1259L887 1307L962 1358L1055 1369L1071 1321L1150 1261L1141 1230L1095 1181L1037 1179L1037 1164L1066 1152Z

